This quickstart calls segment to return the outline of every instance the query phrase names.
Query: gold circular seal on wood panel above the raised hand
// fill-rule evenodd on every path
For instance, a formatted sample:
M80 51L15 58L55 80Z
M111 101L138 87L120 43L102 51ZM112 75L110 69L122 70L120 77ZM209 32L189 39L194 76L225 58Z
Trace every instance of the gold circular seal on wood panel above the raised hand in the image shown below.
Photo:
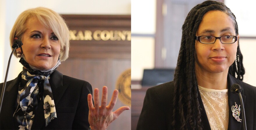
M115 88L118 90L118 99L131 107L131 69L127 69L118 77Z

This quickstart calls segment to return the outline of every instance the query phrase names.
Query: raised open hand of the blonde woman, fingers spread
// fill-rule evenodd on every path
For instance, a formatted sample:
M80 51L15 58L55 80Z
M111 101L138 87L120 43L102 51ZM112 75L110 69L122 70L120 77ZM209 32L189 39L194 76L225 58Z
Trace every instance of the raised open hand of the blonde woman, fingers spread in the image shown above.
M118 90L114 90L109 105L107 104L108 88L102 88L101 106L99 106L99 89L94 89L94 106L92 95L88 94L89 124L92 130L105 130L123 111L129 110L129 106L122 106L112 112L118 97Z

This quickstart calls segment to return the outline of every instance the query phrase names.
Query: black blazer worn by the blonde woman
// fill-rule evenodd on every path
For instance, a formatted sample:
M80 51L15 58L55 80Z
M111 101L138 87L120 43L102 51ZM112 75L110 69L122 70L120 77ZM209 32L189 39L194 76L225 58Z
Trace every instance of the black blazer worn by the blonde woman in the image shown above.
M21 73L16 79L6 83L0 115L0 129L18 129L14 124L13 113L20 80ZM90 83L65 76L57 70L51 74L49 83L54 97L57 118L45 127L43 101L40 101L31 129L88 129L87 95L93 92ZM3 83L0 86L2 90Z

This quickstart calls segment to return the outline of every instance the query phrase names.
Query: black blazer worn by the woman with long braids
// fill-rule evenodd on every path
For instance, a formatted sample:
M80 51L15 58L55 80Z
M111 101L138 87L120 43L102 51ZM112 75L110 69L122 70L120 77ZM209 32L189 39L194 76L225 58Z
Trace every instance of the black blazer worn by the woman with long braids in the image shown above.
M239 105L240 99L238 94L230 92L232 84L238 83L242 87L243 91L241 95L243 97L243 103L246 115L246 126L248 130L256 130L256 87L247 83L243 83L240 80L235 79L228 74L228 106L229 106L229 130L243 129L243 123L238 122L232 116L231 106L235 105L235 102ZM173 115L173 81L161 84L149 88L146 92L146 96L143 103L141 115L139 117L137 130L171 130L172 115ZM199 94L200 96L200 94ZM203 107L202 99L199 97L200 105ZM242 111L241 111L242 114ZM240 118L242 119L242 115ZM202 124L205 130L210 130L210 124L203 108ZM186 124L189 126L189 123Z

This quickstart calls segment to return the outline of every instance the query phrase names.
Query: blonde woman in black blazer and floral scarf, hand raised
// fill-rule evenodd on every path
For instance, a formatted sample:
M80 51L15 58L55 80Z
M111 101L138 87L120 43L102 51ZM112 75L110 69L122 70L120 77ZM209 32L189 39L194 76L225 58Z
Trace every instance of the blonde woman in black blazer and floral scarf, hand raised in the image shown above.
M10 33L11 46L14 40L23 43L15 55L24 67L16 79L6 83L1 129L105 130L129 109L123 106L112 112L117 90L109 106L106 102L99 106L99 90L95 89L94 107L90 83L56 70L69 54L69 30L58 13L42 7L25 10ZM106 101L106 86L102 95Z

